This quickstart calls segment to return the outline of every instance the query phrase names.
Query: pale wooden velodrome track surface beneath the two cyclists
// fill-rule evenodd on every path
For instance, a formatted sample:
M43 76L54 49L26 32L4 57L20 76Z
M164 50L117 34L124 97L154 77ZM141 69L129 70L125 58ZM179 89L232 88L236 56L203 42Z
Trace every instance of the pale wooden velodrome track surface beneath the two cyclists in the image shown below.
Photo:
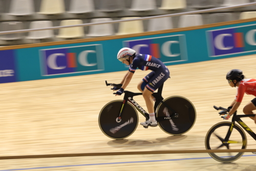
M210 127L223 121L213 105L227 107L236 89L225 76L241 69L247 78L256 78L256 55L168 66L171 78L163 88L163 97L180 95L194 103L197 121L188 133L170 136L159 127L144 129L124 140L112 140L99 129L98 115L114 96L105 80L119 83L126 71L75 77L14 82L1 87L1 156L136 152L179 149L205 149L204 139ZM121 65L121 63L120 63ZM137 83L148 72L137 70L126 90L137 92ZM245 95L238 112L253 98ZM146 109L142 96L134 98ZM144 121L139 114L139 122ZM243 121L256 131L249 118ZM249 137L247 148L255 149ZM222 164L208 154L158 154L91 156L46 159L1 160L1 170L256 170L255 156Z

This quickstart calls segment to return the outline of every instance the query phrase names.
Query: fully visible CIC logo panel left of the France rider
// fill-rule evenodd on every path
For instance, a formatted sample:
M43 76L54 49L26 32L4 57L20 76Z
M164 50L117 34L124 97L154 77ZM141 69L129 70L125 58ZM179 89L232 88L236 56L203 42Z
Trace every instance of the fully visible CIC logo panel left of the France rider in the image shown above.
M40 50L44 76L104 70L101 45Z

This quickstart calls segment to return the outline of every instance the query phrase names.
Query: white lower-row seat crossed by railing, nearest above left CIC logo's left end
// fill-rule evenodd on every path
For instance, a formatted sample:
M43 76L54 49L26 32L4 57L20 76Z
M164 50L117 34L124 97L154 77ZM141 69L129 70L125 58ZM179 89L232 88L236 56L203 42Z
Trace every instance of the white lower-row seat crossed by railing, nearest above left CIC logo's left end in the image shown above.
M30 23L29 29L39 29L39 28L49 28L53 27L51 21L34 21ZM41 31L31 31L26 37L28 39L50 39L53 38L53 30L41 30Z

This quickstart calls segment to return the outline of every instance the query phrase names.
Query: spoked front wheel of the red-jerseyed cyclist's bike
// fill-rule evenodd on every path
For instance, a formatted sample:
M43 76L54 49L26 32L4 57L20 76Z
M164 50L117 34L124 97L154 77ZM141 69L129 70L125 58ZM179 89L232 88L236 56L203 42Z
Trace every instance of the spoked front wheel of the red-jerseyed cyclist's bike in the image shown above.
M212 126L205 137L206 149L245 149L246 135L240 126L234 124L227 143L223 143L231 122L220 122ZM209 153L215 160L223 163L236 161L244 153Z

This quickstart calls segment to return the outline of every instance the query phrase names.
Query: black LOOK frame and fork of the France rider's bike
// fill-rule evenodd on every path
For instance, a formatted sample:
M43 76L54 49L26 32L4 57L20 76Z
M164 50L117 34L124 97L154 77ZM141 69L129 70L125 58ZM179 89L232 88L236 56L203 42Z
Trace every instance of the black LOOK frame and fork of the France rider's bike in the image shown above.
M172 109L170 108L164 101L163 101L163 97L162 97L162 90L163 90L163 84L162 86L160 86L158 88L158 91L157 93L153 93L152 95L156 98L156 102L155 102L155 105L154 105L154 111L156 113L156 110L157 110L157 106L160 104L160 103L163 103L166 108L170 111L173 112L172 115L170 115L169 117L157 117L156 120L159 122L159 121L163 121L163 120L169 120L171 119L172 117L178 117L179 115ZM115 93L114 93L115 94ZM149 119L149 115L148 113L143 109L141 108L141 106L133 99L134 96L138 96L138 95L142 95L142 93L133 93L133 92L130 92L130 91L124 91L124 98L123 98L123 104L122 104L122 107L121 107L121 110L119 112L119 116L118 116L118 122L121 121L121 118L122 118L122 114L123 114L123 111L125 110L125 106L127 104L127 101L131 102L135 108L146 118L146 119Z

